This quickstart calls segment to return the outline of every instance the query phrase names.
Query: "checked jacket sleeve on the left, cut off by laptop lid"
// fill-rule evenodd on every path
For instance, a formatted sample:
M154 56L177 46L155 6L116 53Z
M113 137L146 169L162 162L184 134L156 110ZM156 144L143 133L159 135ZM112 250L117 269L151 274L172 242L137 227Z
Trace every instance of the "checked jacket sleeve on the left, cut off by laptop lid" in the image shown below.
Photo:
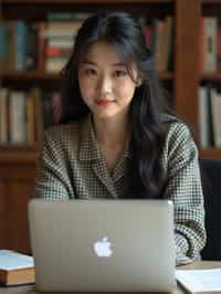
M49 200L74 198L65 161L56 132L53 128L45 132L43 150L36 165L34 197Z

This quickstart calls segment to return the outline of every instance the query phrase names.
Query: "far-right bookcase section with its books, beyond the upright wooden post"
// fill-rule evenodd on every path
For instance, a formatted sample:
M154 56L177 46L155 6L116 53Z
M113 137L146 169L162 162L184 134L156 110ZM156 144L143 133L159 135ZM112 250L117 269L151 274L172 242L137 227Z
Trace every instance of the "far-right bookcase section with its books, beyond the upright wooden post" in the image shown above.
M209 20L210 24L206 23ZM206 147L201 149L203 158L221 158L221 1L202 0L200 2L200 25L202 39L206 38L206 61L204 69L200 64L198 86L207 91L209 118L209 139L206 139ZM202 43L200 39L199 44ZM201 42L201 43L200 43ZM209 43L211 42L211 43ZM199 54L203 52L199 48ZM203 53L204 54L204 53ZM200 60L201 63L201 60ZM202 94L203 96L203 94ZM203 105L201 95L200 103ZM201 101L200 101L201 99ZM218 102L220 101L220 102ZM215 109L217 108L217 109ZM200 111L197 113L200 120ZM202 115L203 116L203 115ZM203 124L202 124L203 125ZM203 129L203 128L202 128ZM207 136L206 136L207 137Z

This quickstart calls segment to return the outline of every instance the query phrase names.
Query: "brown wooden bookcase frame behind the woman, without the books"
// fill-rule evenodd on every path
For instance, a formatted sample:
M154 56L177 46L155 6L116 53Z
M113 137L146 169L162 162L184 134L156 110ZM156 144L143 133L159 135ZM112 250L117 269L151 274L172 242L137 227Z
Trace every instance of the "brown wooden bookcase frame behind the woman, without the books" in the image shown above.
M198 134L198 90L209 81L221 84L221 73L200 72L200 19L202 15L221 15L221 0L2 0L1 18L45 22L49 12L96 12L105 9L126 10L151 18L173 19L173 70L159 73L161 83L171 93L171 105ZM219 15L219 17L220 17ZM39 44L42 50L42 43ZM11 71L0 69L4 87L15 86L53 88L59 75L43 70L40 54L34 71ZM199 143L199 137L196 135ZM41 144L0 145L0 248L7 246L24 253L30 252L27 203L32 195L35 164ZM200 150L203 158L221 158L221 149ZM21 237L19 233L21 232Z

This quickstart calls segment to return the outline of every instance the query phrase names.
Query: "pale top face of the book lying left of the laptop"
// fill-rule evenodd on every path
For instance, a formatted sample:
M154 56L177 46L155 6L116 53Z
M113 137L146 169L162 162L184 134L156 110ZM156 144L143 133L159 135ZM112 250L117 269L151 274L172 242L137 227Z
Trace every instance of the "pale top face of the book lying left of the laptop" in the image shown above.
M32 256L12 250L0 250L0 270L10 271L33 266L34 261Z

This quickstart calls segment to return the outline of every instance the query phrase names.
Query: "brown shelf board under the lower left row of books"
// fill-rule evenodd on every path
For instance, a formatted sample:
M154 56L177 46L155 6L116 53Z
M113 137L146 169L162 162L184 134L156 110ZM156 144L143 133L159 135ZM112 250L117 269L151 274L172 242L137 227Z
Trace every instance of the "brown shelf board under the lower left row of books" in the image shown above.
M39 144L30 146L0 145L0 164L35 164L40 151Z

